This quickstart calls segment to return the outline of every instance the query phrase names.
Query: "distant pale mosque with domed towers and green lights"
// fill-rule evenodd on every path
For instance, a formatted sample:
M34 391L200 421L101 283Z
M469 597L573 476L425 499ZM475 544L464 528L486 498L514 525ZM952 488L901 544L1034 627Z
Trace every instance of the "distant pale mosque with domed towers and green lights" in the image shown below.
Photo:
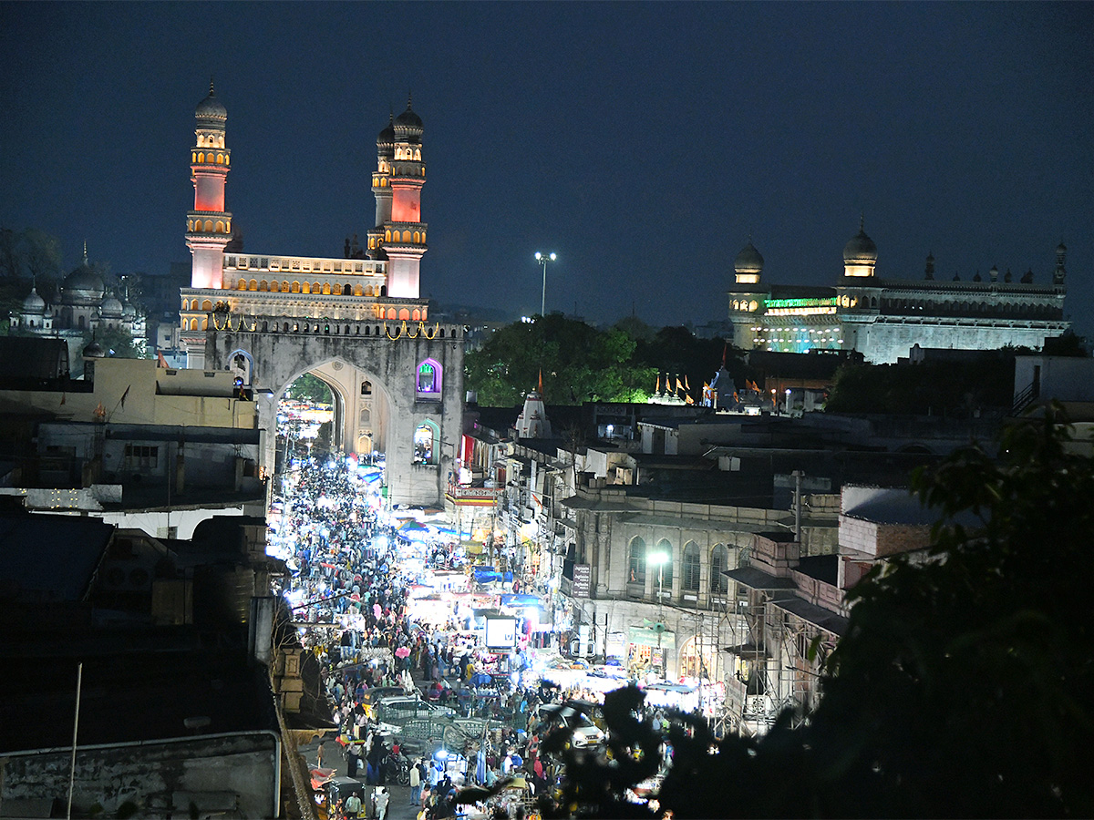
M831 288L765 285L764 257L752 242L734 260L729 292L733 343L802 353L857 350L883 364L920 348L993 350L1006 344L1040 348L1071 324L1063 318L1064 258L1056 249L1050 282L1034 282L1033 271L1012 281L992 268L988 279L934 278L928 255L923 279L883 279L875 274L877 246L860 224L843 247L843 276Z

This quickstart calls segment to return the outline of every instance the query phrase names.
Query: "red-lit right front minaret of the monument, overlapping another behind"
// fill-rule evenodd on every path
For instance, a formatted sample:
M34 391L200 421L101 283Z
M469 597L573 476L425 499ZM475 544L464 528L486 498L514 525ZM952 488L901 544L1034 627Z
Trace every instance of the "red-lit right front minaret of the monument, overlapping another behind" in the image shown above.
M386 181L391 194L376 192L376 216L387 216L381 249L387 257L387 295L418 298L421 257L426 253L426 223L421 221L421 187L426 184L426 164L421 160L421 117L410 108L392 122L391 171ZM383 137L384 132L381 132ZM384 147L377 149L383 154ZM384 157L380 157L380 165ZM379 166L377 166L377 176ZM381 177L381 188L383 188ZM375 190L375 183L374 183ZM389 199L386 199L389 197ZM386 201L385 201L386 199Z

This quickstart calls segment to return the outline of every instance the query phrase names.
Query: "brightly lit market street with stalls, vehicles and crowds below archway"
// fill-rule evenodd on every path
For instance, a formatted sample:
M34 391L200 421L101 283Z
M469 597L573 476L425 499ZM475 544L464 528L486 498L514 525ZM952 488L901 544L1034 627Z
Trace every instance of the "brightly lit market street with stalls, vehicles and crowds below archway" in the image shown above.
M382 464L288 467L267 549L322 669L333 728L302 749L319 816L537 817L563 775L539 741L562 729L603 753L597 705L627 670L551 649L520 578L468 554L443 513L385 506Z

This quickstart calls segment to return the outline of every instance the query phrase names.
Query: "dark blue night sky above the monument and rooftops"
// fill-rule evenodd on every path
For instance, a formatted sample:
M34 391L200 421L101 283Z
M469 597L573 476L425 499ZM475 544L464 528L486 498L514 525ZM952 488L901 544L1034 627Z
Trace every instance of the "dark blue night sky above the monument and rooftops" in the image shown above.
M0 225L115 273L188 261L194 108L226 106L256 254L341 256L376 133L424 124L422 294L655 325L764 281L831 284L865 214L877 274L1047 282L1094 335L1091 3L2 3Z

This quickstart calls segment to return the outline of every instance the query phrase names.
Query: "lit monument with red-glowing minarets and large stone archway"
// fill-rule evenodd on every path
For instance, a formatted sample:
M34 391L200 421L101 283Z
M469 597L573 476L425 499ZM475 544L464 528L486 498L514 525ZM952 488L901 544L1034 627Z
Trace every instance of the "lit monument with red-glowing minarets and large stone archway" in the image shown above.
M394 502L443 504L461 433L462 326L430 324L419 295L421 118L410 103L376 139L375 218L368 247L345 257L243 253L232 242L224 186L231 167L228 112L210 83L195 113L190 149L193 254L182 289L181 338L190 367L234 371L258 402L264 467L274 467L277 400L313 373L335 397L334 444L385 455Z

